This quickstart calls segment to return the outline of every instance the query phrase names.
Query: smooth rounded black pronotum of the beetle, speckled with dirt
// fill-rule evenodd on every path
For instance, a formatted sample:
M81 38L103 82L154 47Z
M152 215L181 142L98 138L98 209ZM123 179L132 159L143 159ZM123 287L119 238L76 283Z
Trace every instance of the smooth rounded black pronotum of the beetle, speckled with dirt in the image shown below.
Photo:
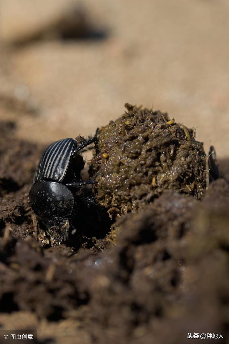
M38 181L32 186L29 197L34 213L42 220L72 214L74 197L64 184Z

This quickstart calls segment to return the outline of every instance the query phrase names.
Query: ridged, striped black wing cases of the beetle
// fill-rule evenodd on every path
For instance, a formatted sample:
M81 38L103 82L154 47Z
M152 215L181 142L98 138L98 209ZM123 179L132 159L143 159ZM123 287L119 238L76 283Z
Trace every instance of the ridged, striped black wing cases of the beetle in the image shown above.
M33 177L32 186L39 180L62 182L77 142L72 139L62 139L53 142L43 153Z

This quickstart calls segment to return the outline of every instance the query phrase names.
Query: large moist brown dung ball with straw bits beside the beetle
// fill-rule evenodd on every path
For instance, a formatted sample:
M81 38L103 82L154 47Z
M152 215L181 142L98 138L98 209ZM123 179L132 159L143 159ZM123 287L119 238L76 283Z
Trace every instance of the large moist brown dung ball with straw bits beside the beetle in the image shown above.
M193 129L167 114L130 104L98 131L91 175L110 216L136 212L165 190L193 195L206 188L206 155Z

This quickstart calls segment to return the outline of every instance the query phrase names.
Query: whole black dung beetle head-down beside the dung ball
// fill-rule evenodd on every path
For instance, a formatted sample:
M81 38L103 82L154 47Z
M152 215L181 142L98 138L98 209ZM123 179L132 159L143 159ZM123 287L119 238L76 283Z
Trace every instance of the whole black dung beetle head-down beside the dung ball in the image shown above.
M79 144L72 138L56 141L48 146L37 165L29 193L30 204L55 241L66 241L73 226L72 218L82 209L82 201L87 207L95 202L91 197L79 197L80 188L93 183L80 176L85 164L80 151L95 141L96 135L81 138ZM72 234L75 232L73 227Z

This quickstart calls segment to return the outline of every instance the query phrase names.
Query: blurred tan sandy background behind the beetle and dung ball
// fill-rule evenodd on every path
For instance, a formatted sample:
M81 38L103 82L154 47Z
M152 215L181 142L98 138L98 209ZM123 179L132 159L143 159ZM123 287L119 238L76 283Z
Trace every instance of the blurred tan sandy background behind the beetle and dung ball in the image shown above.
M228 17L226 0L1 0L0 119L49 143L142 104L229 157Z

